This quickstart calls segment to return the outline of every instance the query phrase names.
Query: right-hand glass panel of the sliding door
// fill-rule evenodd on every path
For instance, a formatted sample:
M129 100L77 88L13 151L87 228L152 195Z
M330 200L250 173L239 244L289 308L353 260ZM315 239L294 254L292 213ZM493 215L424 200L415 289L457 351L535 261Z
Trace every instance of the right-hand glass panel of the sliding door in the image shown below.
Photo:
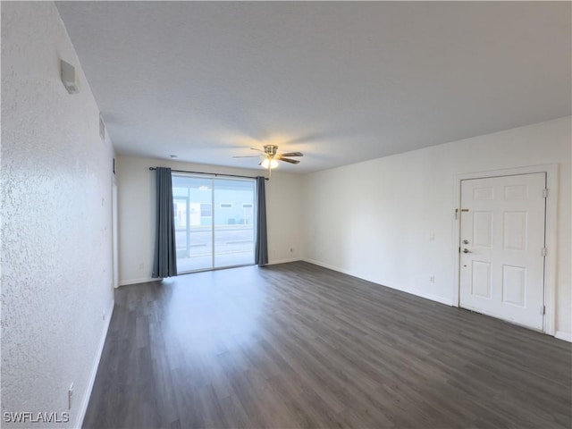
M214 181L214 267L254 264L254 181Z

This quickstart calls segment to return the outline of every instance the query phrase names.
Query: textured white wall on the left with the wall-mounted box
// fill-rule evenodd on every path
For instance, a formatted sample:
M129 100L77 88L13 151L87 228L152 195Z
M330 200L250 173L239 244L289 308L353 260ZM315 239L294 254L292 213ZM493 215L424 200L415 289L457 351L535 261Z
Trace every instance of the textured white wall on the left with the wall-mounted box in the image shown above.
M53 3L2 3L2 412L77 427L113 303L113 148ZM74 385L71 410L68 389Z

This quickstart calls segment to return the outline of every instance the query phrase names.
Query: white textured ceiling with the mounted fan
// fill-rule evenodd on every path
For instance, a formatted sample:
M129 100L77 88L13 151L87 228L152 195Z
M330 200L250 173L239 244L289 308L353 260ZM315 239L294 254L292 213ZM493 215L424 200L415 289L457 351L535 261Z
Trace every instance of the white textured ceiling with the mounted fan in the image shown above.
M57 7L118 153L313 172L571 114L570 5Z

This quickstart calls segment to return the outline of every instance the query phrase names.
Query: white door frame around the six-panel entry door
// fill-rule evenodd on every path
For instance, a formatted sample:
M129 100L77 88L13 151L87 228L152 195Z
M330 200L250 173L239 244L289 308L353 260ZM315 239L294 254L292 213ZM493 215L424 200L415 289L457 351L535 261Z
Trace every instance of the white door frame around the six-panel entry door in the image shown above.
M540 164L526 167L506 168L485 172L459 173L455 176L453 198L453 252L455 261L455 287L453 290L453 307L459 307L460 297L460 254L458 242L460 240L460 208L461 208L461 181L469 179L487 179L501 176L515 176L520 174L532 174L535 172L546 173L546 215L544 229L544 246L546 257L544 258L544 306L543 332L549 335L555 334L556 313L556 258L558 254L557 234L557 211L558 211L558 164ZM458 215L456 215L458 214Z

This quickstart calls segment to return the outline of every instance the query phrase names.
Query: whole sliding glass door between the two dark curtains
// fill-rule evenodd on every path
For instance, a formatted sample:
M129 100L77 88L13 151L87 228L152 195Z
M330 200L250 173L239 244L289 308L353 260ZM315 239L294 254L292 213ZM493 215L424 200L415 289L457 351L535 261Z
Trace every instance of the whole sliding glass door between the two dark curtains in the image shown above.
M172 175L179 273L254 264L254 180Z

